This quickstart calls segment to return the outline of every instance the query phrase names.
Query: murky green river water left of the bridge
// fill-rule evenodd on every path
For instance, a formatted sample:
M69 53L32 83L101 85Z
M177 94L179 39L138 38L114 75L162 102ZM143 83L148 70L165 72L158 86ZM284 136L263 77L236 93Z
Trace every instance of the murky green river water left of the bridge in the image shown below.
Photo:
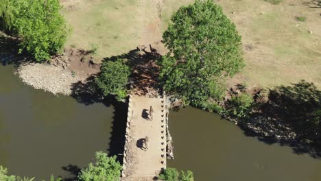
M69 178L63 167L82 168L96 151L107 151L112 106L85 106L72 97L34 90L13 71L0 65L0 165L36 180L48 180L51 173Z

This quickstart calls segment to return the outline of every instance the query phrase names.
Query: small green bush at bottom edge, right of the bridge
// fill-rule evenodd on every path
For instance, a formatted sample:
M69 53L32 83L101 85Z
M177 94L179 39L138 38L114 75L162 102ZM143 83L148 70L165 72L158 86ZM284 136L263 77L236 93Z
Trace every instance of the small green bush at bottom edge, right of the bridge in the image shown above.
M167 168L162 173L160 173L159 178L165 181L193 181L193 172L181 171L180 173L175 168Z

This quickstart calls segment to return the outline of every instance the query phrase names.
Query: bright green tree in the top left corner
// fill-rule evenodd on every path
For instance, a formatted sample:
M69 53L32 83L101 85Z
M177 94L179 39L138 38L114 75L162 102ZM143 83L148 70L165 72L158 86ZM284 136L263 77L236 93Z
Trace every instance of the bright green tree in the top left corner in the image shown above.
M25 49L37 61L62 51L70 32L60 14L59 0L4 0L0 2L3 27L21 37Z

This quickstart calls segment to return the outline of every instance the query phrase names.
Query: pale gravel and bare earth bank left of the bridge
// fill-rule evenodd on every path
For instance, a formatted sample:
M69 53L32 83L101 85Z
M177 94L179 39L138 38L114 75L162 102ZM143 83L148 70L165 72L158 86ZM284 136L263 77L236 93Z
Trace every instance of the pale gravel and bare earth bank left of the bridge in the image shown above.
M99 73L100 64L83 50L69 49L64 55L52 58L49 63L21 64L17 73L21 80L36 89L54 95L71 95L73 85L86 84L88 77Z

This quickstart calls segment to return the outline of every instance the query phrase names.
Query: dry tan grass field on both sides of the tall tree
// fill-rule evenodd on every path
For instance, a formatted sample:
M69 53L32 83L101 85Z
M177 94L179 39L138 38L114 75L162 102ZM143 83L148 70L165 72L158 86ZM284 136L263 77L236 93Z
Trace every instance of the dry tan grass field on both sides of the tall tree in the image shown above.
M171 13L192 0L61 0L73 27L67 46L90 49L97 61L135 49L166 49L161 34ZM246 67L230 84L271 87L305 79L321 88L321 8L312 0L217 0L242 36ZM296 17L304 16L305 21Z

